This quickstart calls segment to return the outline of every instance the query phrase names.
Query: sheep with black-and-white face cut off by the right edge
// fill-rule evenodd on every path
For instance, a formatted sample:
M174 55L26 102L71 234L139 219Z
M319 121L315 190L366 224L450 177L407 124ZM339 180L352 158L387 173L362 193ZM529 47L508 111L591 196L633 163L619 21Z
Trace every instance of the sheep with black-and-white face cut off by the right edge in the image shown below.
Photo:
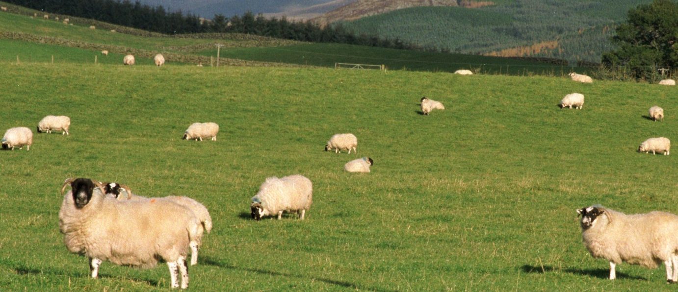
M600 205L578 209L582 241L595 258L610 262L610 280L622 262L666 266L666 282L678 280L678 216L672 213L626 215Z

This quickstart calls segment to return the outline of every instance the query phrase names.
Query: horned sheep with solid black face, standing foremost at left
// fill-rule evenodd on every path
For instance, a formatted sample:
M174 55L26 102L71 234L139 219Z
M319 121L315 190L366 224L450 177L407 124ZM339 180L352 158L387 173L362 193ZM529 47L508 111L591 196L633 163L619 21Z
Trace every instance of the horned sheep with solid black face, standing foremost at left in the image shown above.
M68 251L89 258L92 278L102 261L153 268L162 259L172 288L179 287L178 274L181 288L188 288L186 255L199 226L191 209L166 200L118 201L87 178L66 180L62 195L67 186L71 191L59 210L59 230Z

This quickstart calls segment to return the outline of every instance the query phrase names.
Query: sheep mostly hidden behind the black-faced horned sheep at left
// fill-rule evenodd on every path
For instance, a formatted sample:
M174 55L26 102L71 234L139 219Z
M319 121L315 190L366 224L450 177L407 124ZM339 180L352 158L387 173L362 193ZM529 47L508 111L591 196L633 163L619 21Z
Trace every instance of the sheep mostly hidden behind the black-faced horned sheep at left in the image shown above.
M117 184L115 182L106 182L100 184L104 186L104 194L113 196L118 200L153 200L153 199L169 200L184 207L187 207L188 209L191 209L191 211L193 211L193 213L198 217L198 220L200 220L201 224L200 226L198 226L198 232L195 238L196 241L191 242L191 266L198 263L198 249L202 244L203 232L207 231L207 233L210 233L210 231L212 231L212 217L210 217L210 211L207 211L207 208L204 205L202 205L198 201L188 198L187 196L165 196L163 198L146 198L144 196L132 194L132 190L128 186L125 186L123 184ZM127 196L120 196L121 192L125 192Z

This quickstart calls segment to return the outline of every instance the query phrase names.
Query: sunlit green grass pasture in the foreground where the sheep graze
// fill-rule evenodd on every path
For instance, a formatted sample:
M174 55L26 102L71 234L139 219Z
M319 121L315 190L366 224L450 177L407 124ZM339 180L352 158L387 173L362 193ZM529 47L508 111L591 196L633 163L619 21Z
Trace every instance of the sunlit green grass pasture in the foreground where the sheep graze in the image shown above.
M0 286L18 290L165 290L165 266L85 257L58 232L65 178L127 184L138 194L204 203L196 291L360 289L669 289L664 269L618 266L584 249L575 209L678 213L674 155L635 150L678 137L674 87L564 78L309 68L9 64L0 129L71 117L71 135L37 134L0 151ZM556 106L586 95L582 110ZM422 116L421 96L446 110ZM643 118L658 104L664 123ZM180 140L195 121L216 142ZM358 154L323 152L334 133ZM368 156L372 173L345 173ZM314 204L304 221L255 222L250 198L271 175L302 173Z

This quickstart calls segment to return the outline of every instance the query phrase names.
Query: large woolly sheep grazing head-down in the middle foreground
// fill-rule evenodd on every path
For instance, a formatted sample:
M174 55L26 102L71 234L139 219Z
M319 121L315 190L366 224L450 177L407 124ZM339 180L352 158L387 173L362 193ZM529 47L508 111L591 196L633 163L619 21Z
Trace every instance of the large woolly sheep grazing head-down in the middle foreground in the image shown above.
M267 215L278 215L283 211L296 212L304 220L306 211L313 203L313 184L304 175L289 175L283 178L266 178L259 192L252 197L252 219L261 220Z

